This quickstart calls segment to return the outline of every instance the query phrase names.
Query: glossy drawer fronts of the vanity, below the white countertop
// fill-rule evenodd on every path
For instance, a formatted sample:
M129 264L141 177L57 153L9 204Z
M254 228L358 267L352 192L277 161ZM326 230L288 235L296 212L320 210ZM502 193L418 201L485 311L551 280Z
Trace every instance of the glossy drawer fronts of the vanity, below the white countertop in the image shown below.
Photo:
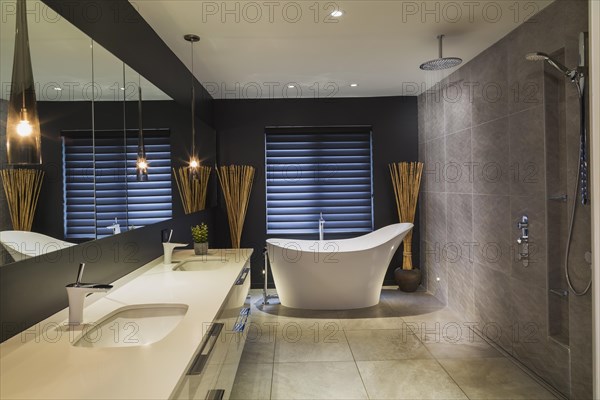
M229 399L249 325L250 261L247 261L172 399Z

